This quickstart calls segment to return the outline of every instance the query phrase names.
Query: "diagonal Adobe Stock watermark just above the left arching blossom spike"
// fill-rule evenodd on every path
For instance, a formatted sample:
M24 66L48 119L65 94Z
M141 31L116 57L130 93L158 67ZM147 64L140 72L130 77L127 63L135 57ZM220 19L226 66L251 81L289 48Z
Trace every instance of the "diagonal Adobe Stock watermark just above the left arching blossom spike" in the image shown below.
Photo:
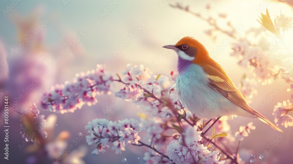
M54 66L56 65L56 63L59 63L67 54L68 52L71 51L71 48L75 47L80 41L81 39L83 39L86 36L86 33L80 32L79 36L76 37L74 40L72 40L68 47L66 47L65 49L61 50L61 54L56 55L56 60L52 60Z

